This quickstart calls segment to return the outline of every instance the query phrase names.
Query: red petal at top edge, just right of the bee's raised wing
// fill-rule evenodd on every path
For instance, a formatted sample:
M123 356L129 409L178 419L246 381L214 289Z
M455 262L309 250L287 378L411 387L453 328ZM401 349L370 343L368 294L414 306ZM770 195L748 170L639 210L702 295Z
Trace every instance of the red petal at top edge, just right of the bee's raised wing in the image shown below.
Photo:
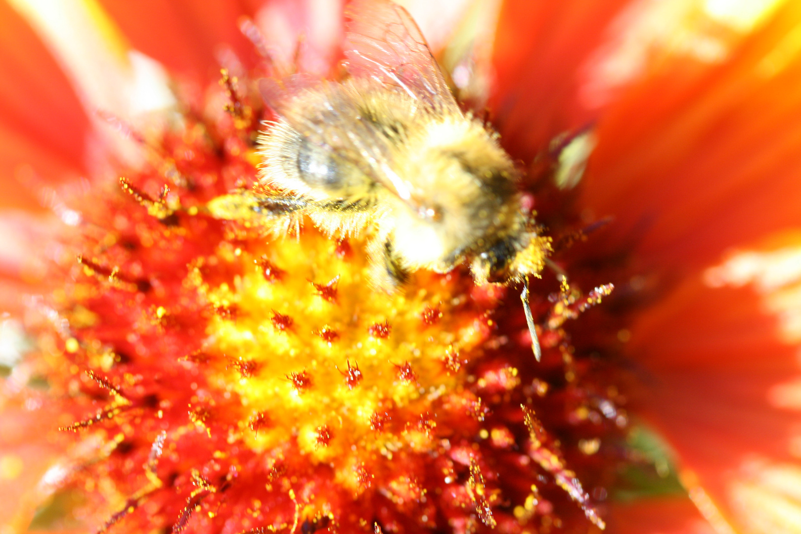
M529 160L558 133L595 116L579 98L580 67L606 38L627 0L529 2L501 8L491 106L505 147Z

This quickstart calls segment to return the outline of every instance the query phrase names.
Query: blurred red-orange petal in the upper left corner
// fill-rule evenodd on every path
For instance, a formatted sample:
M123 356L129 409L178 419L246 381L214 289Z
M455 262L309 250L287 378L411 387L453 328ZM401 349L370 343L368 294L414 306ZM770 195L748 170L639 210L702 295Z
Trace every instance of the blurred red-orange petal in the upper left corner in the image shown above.
M35 171L53 183L83 172L89 122L66 76L6 2L0 72L0 207L41 209L19 173Z

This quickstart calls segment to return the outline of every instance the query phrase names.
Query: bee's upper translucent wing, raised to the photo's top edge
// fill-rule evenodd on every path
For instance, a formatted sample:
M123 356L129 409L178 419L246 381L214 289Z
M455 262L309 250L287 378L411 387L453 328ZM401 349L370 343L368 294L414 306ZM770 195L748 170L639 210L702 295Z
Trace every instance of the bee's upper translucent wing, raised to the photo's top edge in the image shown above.
M388 0L355 0L345 13L348 72L405 90L433 110L457 110L420 28Z

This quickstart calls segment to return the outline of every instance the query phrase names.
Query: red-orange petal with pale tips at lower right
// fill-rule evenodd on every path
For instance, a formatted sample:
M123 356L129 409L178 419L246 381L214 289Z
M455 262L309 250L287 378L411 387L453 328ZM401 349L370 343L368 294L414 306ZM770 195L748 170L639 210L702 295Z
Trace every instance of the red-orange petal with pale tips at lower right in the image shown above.
M682 480L711 520L799 532L764 525L801 517L801 499L781 482L801 480L801 332L774 315L801 311L801 269L799 285L785 279L770 291L723 286L720 269L712 271L716 287L698 273L636 315L627 353L641 366L638 413L678 452ZM771 469L780 475L767 476Z

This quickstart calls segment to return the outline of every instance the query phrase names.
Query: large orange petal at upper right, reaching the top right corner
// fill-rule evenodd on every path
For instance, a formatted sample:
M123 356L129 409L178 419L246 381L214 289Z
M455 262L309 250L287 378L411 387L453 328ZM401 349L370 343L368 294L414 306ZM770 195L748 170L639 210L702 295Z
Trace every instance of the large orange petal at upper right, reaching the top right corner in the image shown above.
M610 104L582 190L615 217L607 251L689 270L797 223L799 23L787 2L722 62L666 60Z

